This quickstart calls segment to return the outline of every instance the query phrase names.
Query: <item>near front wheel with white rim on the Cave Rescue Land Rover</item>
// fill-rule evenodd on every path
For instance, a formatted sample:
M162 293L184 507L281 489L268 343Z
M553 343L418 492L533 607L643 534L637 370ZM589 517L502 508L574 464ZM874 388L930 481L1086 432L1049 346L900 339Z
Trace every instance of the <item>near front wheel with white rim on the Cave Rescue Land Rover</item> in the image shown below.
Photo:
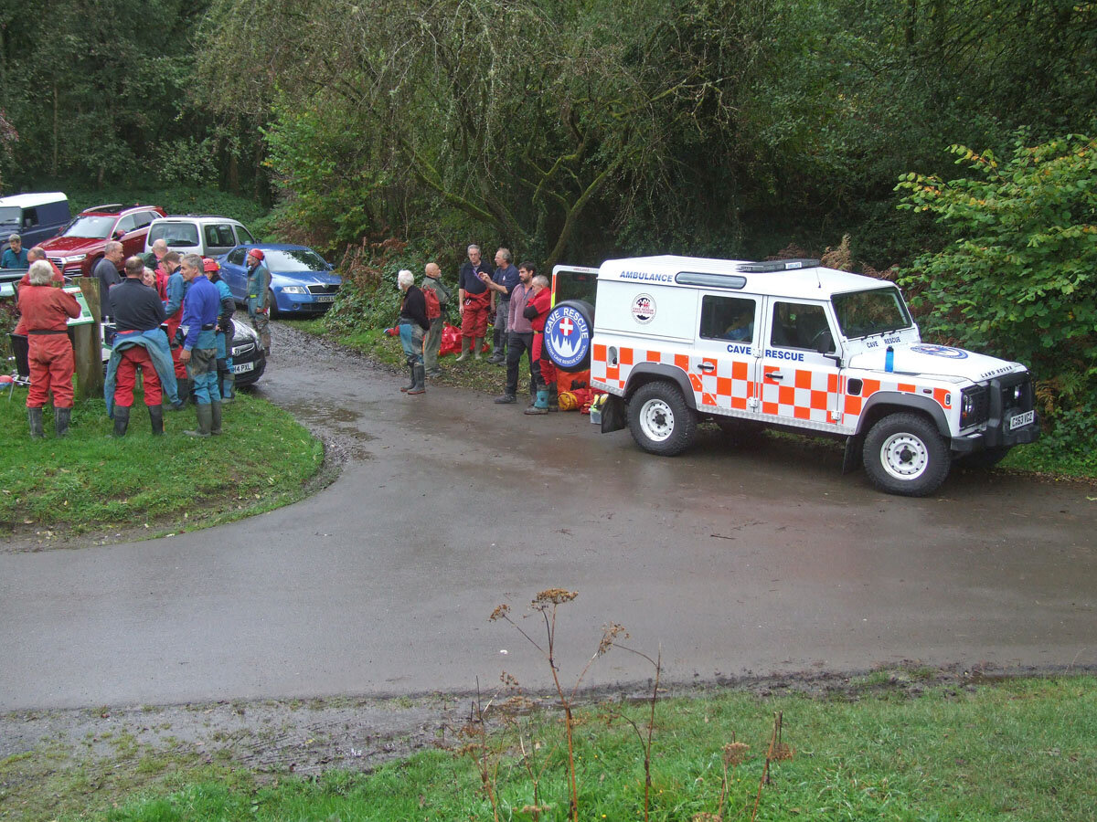
M864 470L872 484L903 496L931 494L949 476L951 455L937 426L925 416L884 416L864 437Z

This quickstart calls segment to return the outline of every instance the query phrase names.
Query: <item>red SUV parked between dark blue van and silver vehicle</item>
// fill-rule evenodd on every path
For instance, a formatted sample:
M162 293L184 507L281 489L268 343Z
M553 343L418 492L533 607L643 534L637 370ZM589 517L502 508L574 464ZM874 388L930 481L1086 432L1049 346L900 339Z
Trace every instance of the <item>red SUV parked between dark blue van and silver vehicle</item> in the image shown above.
M160 206L114 203L86 208L60 235L43 242L42 248L66 276L87 276L103 259L103 249L110 240L121 242L126 256L143 252L148 224L163 216Z

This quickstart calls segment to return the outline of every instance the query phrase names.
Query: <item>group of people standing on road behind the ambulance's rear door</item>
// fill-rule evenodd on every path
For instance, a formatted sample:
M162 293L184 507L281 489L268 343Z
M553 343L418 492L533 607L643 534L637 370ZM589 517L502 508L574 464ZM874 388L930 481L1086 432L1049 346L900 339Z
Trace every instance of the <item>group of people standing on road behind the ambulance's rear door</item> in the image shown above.
M500 248L495 254L495 269L485 263L479 246L470 246L468 260L457 275L457 310L461 315L461 355L457 363L479 359L482 344L487 336L488 319L494 322L494 351L487 359L496 365L506 363L507 386L495 399L497 403L518 401L518 379L522 354L530 368L530 393L533 399L525 409L528 414L544 414L559 410L556 389L556 368L544 349L544 324L552 307L548 278L536 273L533 263L513 264L509 249ZM404 293L400 304L399 334L407 357L410 383L400 388L411 395L426 391L426 376L436 376L438 351L444 324L444 308L451 293L441 283L437 263L427 263L420 286L415 275L404 270L397 276ZM443 309L439 316L428 310L433 298Z

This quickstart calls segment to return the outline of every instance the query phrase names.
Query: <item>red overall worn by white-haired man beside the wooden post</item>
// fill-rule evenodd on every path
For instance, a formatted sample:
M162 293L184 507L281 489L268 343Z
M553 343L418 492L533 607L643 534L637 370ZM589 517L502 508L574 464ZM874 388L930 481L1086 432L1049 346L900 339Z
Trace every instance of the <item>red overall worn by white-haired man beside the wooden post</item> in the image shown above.
M68 339L68 318L80 316L80 304L60 288L26 285L20 289L19 307L30 347L31 388L26 392L26 407L42 408L53 391L54 408L72 408L76 364Z

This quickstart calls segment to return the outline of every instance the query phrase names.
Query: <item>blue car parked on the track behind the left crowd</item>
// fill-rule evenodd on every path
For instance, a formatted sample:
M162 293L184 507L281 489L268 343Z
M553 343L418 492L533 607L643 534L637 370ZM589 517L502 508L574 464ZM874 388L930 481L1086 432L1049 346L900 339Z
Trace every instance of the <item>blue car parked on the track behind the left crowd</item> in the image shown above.
M263 262L270 269L268 302L272 318L317 315L331 307L342 285L342 277L331 273L335 267L331 263L307 246L265 242L237 246L218 258L220 275L237 302L246 302L248 298L248 270L244 263L249 249L262 249Z

